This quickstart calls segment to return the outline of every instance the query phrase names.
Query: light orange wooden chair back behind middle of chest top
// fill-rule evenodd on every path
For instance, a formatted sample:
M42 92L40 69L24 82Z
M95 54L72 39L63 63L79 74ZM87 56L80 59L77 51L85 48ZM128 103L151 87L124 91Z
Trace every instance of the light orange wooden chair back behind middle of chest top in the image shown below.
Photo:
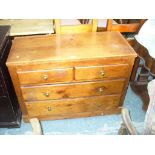
M85 32L96 32L97 20L93 19L90 24L74 24L64 25L61 23L62 20L55 19L55 33L56 34L72 34L72 33L85 33Z

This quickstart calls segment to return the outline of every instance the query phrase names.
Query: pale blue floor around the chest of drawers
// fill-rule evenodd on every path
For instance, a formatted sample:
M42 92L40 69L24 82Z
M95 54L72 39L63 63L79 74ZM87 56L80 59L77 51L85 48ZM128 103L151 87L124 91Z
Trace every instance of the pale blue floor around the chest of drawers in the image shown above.
M141 99L128 87L124 106L130 110L135 127L141 133L145 112ZM122 120L119 115L96 116L79 119L42 121L44 135L117 135ZM22 122L20 128L0 128L0 135L31 135L30 123Z

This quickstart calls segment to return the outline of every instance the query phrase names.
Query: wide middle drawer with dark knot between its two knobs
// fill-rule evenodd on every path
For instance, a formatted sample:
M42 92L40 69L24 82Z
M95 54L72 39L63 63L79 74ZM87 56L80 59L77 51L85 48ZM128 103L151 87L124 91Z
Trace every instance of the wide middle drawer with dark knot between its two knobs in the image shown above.
M21 87L25 101L120 94L125 79Z

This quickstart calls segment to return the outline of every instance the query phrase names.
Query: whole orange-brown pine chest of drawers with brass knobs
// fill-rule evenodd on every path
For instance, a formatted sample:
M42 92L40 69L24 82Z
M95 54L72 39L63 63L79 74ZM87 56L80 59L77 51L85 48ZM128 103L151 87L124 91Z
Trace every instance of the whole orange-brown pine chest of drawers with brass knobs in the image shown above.
M25 121L120 112L136 54L118 32L15 38L7 60Z

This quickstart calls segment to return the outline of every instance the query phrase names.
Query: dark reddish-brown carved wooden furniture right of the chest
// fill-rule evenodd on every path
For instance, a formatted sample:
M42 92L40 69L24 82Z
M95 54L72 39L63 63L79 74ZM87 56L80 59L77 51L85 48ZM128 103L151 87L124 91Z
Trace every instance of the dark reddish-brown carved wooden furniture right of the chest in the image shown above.
M134 75L133 81L131 81L132 90L141 97L143 100L143 109L147 110L149 104L149 95L147 92L148 78L151 75L155 78L155 59L150 56L148 50L136 41L134 49L138 54L139 60L143 59L144 63L139 67L136 67L135 73L137 73L137 68L141 68L138 76ZM133 68L134 69L134 68Z

